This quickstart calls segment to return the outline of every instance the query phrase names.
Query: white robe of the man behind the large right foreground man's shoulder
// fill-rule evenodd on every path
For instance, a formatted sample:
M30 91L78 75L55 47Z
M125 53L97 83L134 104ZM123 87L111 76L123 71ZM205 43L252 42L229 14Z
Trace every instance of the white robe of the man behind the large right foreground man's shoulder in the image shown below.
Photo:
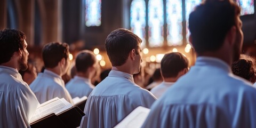
M159 99L173 84L174 82L162 82L161 84L151 89L150 92L154 94L157 99Z

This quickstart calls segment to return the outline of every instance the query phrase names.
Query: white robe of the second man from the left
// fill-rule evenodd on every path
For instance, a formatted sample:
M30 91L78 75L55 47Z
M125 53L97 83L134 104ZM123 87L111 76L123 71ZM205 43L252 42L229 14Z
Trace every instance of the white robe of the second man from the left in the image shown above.
M58 97L60 99L64 98L73 104L63 79L50 70L45 69L44 73L39 73L29 87L35 93L39 103Z

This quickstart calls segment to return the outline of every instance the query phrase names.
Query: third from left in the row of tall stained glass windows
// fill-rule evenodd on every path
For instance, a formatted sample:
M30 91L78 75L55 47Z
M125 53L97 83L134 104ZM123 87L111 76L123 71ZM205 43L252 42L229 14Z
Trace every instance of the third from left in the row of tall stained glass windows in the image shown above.
M182 45L182 0L166 0L167 45Z

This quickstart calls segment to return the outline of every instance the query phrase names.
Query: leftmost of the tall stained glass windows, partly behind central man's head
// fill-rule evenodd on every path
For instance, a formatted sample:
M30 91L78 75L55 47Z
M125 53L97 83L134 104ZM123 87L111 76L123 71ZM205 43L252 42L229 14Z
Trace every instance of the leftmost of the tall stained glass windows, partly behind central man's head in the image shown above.
M142 39L141 47L146 47L146 3L144 0L133 0L131 4L131 31Z

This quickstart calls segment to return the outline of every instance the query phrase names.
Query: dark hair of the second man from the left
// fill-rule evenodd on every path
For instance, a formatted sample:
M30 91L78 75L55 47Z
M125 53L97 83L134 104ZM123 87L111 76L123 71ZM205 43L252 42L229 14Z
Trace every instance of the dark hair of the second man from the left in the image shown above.
M67 43L51 42L42 51L45 68L54 68L62 58L68 59L69 46Z

